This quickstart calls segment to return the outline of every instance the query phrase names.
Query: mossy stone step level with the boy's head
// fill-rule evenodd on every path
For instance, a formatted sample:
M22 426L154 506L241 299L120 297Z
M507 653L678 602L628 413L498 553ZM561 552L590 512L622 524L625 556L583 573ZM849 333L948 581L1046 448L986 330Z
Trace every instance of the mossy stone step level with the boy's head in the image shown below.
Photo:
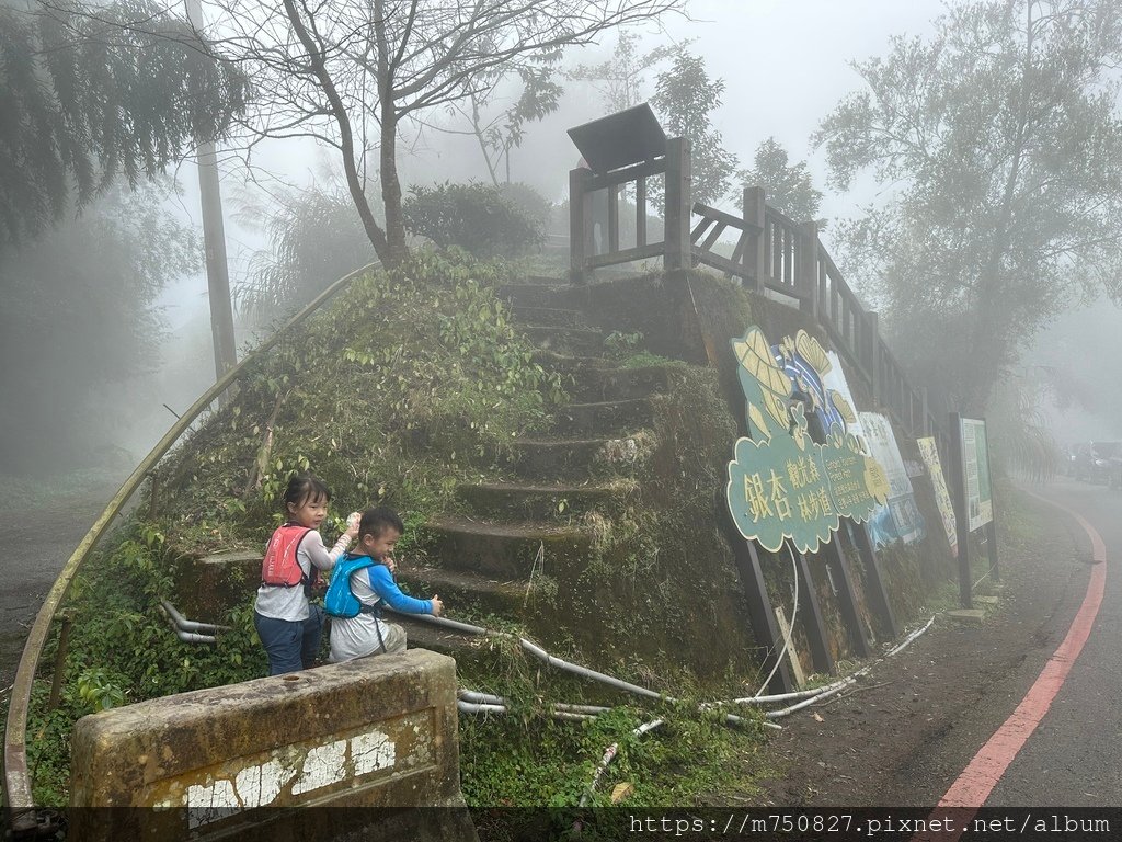
M467 518L434 518L425 524L432 534L432 558L447 570L530 579L539 550L544 548L545 573L574 575L583 569L591 536L577 527L545 523L494 523Z

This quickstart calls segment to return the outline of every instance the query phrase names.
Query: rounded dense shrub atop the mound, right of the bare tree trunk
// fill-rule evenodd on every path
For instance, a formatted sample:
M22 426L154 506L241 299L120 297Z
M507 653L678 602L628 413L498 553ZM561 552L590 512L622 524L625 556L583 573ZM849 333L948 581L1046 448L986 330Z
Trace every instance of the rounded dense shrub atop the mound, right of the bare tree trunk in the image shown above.
M521 194L527 191L523 186ZM487 184L414 185L404 210L405 226L413 234L442 248L459 246L476 257L515 257L545 240L541 216L527 213Z

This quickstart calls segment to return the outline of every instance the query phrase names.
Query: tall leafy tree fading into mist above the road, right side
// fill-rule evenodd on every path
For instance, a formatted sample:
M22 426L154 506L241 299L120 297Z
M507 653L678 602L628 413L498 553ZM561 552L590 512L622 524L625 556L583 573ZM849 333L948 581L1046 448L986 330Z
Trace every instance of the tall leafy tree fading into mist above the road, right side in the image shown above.
M954 6L934 37L855 65L822 122L837 185L885 199L843 227L920 382L985 409L1020 346L1073 300L1122 292L1122 7Z

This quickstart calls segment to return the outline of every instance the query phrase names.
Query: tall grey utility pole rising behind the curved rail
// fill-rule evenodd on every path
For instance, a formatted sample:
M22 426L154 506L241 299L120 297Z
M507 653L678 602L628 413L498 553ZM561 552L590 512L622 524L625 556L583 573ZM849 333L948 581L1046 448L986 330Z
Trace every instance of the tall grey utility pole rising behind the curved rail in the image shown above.
M185 0L187 20L202 34L201 0ZM206 250L206 289L210 293L211 336L214 339L214 378L219 379L238 363L233 339L233 306L230 302L230 273L226 257L226 227L222 222L222 193L218 181L218 155L210 140L200 143L199 193L203 213L203 245ZM227 394L219 399L226 403Z

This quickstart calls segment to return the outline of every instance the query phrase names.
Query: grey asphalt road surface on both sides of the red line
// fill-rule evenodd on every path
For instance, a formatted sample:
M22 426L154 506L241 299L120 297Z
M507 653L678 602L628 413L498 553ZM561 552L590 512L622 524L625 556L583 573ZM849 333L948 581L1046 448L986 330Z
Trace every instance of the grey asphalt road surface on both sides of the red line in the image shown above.
M1105 585L1086 643L1070 663L1047 712L1001 774L984 806L1122 805L1122 495L1104 486L1060 478L1023 486L1078 512L1105 544ZM1046 505L1041 503L1041 505ZM1049 516L1050 519L1050 516ZM1028 651L1017 668L995 676L981 704L955 721L913 759L890 789L895 803L935 805L971 766L980 749L1010 720L1064 643L1087 596L1094 565L1092 541L1075 519L1061 515L1080 564L1045 564L1029 587L1047 594L1048 611L1018 616ZM1013 606L1015 611L1015 606ZM969 663L959 670L968 671ZM967 680L974 680L971 676ZM976 806L976 803L975 803Z

